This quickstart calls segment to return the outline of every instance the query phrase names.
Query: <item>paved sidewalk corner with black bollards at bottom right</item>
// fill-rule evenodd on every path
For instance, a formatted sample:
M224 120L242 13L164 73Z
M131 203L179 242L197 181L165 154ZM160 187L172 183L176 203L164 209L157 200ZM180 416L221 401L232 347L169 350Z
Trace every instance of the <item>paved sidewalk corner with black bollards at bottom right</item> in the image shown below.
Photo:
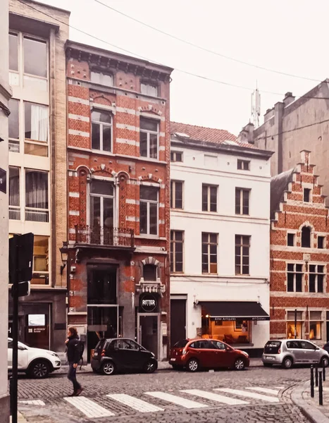
M323 382L323 405L318 404L318 387L314 386L314 398L311 398L310 379L292 391L292 401L302 408L312 423L329 423L329 367L325 369L325 375L327 380Z

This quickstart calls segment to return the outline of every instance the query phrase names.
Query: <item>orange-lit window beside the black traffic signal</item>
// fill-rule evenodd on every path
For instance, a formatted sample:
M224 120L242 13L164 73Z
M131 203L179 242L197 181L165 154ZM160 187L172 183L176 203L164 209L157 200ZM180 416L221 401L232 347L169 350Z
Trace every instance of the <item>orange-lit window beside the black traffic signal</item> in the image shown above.
M49 238L35 235L33 246L33 285L47 285L49 283Z

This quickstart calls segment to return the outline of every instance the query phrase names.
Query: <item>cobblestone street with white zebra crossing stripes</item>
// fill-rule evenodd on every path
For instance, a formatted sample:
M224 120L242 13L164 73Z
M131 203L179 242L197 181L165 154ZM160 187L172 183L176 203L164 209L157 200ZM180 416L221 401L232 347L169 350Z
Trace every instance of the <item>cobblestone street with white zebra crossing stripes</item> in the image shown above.
M264 369L190 374L79 374L82 396L69 398L65 375L19 380L19 410L27 422L308 422L290 390L309 369Z

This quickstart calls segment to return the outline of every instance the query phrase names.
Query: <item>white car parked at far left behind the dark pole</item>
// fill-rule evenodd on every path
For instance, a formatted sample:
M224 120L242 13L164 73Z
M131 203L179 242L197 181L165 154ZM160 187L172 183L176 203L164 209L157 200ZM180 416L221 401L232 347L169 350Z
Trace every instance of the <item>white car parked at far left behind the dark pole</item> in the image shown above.
M13 340L8 338L8 372L13 367ZM30 348L18 342L18 372L42 379L61 368L61 359L53 351Z

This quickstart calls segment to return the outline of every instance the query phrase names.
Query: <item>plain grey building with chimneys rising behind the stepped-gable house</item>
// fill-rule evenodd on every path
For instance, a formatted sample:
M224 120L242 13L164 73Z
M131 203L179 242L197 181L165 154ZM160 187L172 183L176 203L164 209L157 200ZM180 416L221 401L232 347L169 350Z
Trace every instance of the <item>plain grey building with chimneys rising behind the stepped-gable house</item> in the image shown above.
M299 162L300 151L311 149L319 183L328 197L329 80L316 85L299 99L287 92L281 102L266 111L263 125L254 128L248 123L238 140L274 152L271 176L293 168Z

